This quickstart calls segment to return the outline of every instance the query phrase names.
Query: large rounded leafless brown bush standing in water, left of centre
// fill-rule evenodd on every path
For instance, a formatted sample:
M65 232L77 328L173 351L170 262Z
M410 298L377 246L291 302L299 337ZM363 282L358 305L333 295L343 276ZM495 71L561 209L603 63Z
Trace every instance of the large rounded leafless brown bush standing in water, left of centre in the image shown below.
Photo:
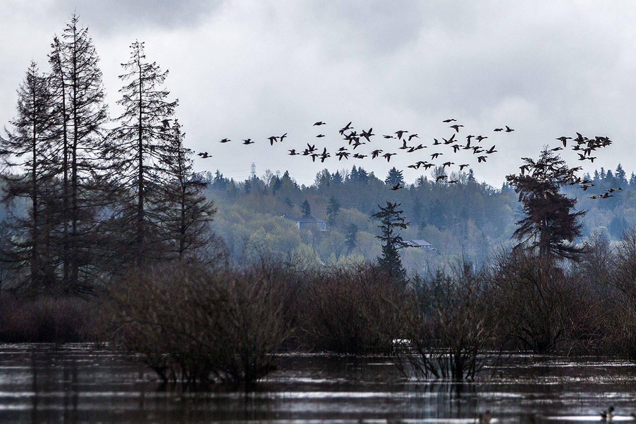
M287 336L276 282L256 270L132 270L104 315L163 381L253 383Z

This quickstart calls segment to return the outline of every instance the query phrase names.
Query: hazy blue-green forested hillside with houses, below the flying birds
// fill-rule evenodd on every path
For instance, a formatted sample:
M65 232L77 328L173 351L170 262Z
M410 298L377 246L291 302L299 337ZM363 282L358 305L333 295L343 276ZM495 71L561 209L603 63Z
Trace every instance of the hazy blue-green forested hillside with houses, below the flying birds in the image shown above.
M582 219L579 242L595 232L619 240L625 229L636 224L636 176L632 174L628 181L619 164L614 172L601 168L585 178L594 184L586 191L578 186L565 189L568 196L577 197L577 210L588 211ZM436 249L401 250L409 271L462 255L481 263L511 243L515 222L522 218L511 188L479 182L472 170L459 175L459 184L434 182L434 175L422 175L398 190L391 189L398 182L404 183L396 168L380 179L355 165L333 173L324 169L311 186L297 184L288 172L274 175L266 171L261 177L237 182L217 170L208 172L206 180L207 196L218 207L212 227L225 240L235 261L265 254L289 257L299 252L324 263L348 257L373 260L380 254L380 242L376 238L378 221L371 215L378 205L391 201L401 203L410 222L403 231L404 240L425 240ZM612 198L590 198L612 187L621 188ZM305 201L312 216L327 222L326 231L299 231L294 221L283 217L301 217Z

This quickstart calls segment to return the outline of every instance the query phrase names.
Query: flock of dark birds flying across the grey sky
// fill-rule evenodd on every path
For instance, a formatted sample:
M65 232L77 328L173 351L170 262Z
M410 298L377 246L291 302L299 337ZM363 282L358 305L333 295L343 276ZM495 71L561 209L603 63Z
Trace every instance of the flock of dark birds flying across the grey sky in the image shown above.
M333 156L338 157L338 161L341 161L343 159L349 160L350 157L356 158L359 160L370 157L371 160L375 160L377 158L384 158L387 160L387 162L390 162L391 157L397 154L396 153L397 150L402 150L405 153L415 153L422 149L427 149L429 147L432 147L432 149L435 149L436 151L434 153L431 153L430 155L427 154L425 156L426 158L430 156L430 161L417 160L417 161L414 161L414 163L412 163L411 165L408 165L408 168L419 169L420 167L422 167L424 169L429 169L431 167L441 166L442 170L445 170L446 167L450 168L452 167L452 165L455 165L455 162L453 162L452 160L441 161L440 156L445 156L445 152L438 151L438 150L441 150L441 147L446 147L446 149L452 149L452 151L446 152L445 158L447 158L449 154L455 154L459 151L470 151L473 155L476 155L477 163L486 162L488 160L488 155L497 152L497 150L495 150L495 145L492 145L488 149L485 146L482 146L481 142L485 139L488 139L487 135L469 134L469 135L466 135L465 137L462 136L461 137L462 139L466 139L466 141L464 142L459 137L460 128L463 128L464 125L460 125L459 123L457 123L457 120L455 120L454 118L449 118L449 119L443 120L442 122L445 124L450 124L448 127L452 128L453 130L452 134L450 135L450 137L448 137L448 139L444 137L441 137L441 141L438 139L432 139L432 143L430 143L427 146L419 142L421 139L418 133L410 133L407 130L397 130L396 132L393 132L393 133L382 134L382 139L385 140L385 143L382 146L377 146L378 148L375 148L371 151L367 151L366 153L363 153L362 149L360 150L356 150L356 149L365 144L371 144L372 140L375 141L373 137L377 137L377 136L375 133L373 133L373 128L369 128L368 130L363 129L358 132L354 127L352 127L352 122L350 121L349 123L347 123L347 125L345 125L344 127L340 128L340 130L338 130L338 133L343 137L343 140L346 141L347 144L340 147L336 151L333 151L332 153L333 153ZM316 121L312 127L322 127L323 125L326 125L326 122ZM505 128L494 128L493 132L510 133L515 131L513 128L508 127L508 125L505 125L504 127ZM576 134L577 134L576 138L565 137L565 136L558 137L556 140L560 140L560 142L563 143L563 147L558 146L551 149L551 151L559 151L564 149L565 147L567 147L568 140L572 140L572 142L574 142L572 146L572 150L576 151L576 153L579 154L579 160L580 161L589 160L590 163L593 163L596 157L591 156L591 153L600 147L606 147L612 143L611 140L609 140L607 137L595 137L594 139L588 139L587 137L583 137L583 135L581 135L580 133L576 133ZM287 133L284 133L282 135L272 135L270 137L266 137L265 140L268 140L270 142L270 146L273 146L274 143L282 142L284 139L286 139L286 137L287 137ZM322 139L322 137L326 137L326 135L324 135L324 133L319 133L318 135L315 136L315 138L317 139ZM391 143L389 142L389 140L396 140L398 143L388 144L388 143ZM224 138L220 142L227 143L230 141L232 140L228 138ZM254 143L255 142L252 139L242 139L242 144L244 145L249 145ZM311 158L312 161L314 162L317 159L320 160L321 162L324 162L328 158L333 157L332 154L327 151L327 147L323 147L321 151L321 149L319 147L316 147L315 144L310 144L310 143L307 143L307 147L303 149L297 150L294 148L294 149L288 149L288 151L290 156L307 156L308 158ZM201 158L212 157L212 155L207 153L207 151L198 153L198 156L200 156ZM528 158L522 158L522 159L526 160ZM469 163L457 164L457 167L459 167L460 171L462 171L464 168L469 166L470 166ZM523 175L525 172L529 172L529 169L530 169L530 165L528 163L526 165L522 165L520 167L521 174ZM581 179L580 177L577 177L576 175L574 175L574 172L581 170L581 167L570 168L570 170L572 171L572 174L570 177L570 184L572 185L579 184L579 186L583 188L584 191L594 185L594 184L591 184L591 181ZM448 175L446 175L445 173L438 175L436 177L436 181L446 181L448 182L448 184L459 183L459 179L448 179ZM393 190L397 190L400 188L403 188L401 184L391 186L391 189ZM620 189L621 188L611 188L607 190L605 193L603 193L602 195L594 195L594 196L591 196L591 198L593 199L609 198L609 197L612 197L611 195L612 192L616 190L620 190Z

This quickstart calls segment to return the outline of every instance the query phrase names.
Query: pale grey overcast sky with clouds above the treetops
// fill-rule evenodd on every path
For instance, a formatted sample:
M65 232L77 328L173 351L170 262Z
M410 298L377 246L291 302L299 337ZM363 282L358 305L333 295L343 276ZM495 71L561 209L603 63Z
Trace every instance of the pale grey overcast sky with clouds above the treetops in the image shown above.
M362 165L384 179L396 165L413 182L430 172L406 165L439 151L501 186L520 157L575 132L614 140L593 164L585 161L586 170L619 162L628 174L636 170L633 1L3 0L3 125L15 116L29 63L48 70L53 35L73 11L97 48L113 118L130 43L144 41L148 60L170 70L166 86L179 99L186 145L212 154L197 157L197 170L242 180L254 162L258 175L289 170L312 184L322 168ZM478 164L476 155L430 146L454 132L446 118L464 125L456 138L488 136L482 144L496 144L497 153ZM319 120L327 125L312 127ZM333 156L343 146L338 129L349 121L376 134L356 152L399 154L391 163L287 155L310 142ZM492 132L504 125L515 132ZM408 154L381 137L397 130L418 133L429 147ZM266 138L285 132L270 147ZM225 137L232 142L220 144ZM241 145L247 138L256 143ZM572 151L563 157L581 164Z

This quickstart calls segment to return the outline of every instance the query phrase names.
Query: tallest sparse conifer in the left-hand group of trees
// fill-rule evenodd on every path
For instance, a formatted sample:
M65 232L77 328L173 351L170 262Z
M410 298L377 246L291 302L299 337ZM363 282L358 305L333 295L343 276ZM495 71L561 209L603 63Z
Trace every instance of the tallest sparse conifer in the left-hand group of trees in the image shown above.
M59 140L56 163L62 179L62 249L64 283L75 290L79 272L90 262L95 246L95 189L93 177L100 172L97 160L103 152L104 103L99 57L74 14L62 38L54 38L51 81L57 100ZM87 276L88 277L88 276Z

